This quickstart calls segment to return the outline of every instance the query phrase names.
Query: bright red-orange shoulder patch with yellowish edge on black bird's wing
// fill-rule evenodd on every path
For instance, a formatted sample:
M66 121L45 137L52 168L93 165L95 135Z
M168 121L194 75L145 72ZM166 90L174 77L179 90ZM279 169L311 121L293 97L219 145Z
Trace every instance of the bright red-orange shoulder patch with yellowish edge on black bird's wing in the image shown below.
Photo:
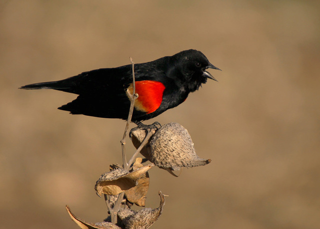
M158 81L135 81L135 92L139 97L134 102L134 108L147 114L152 113L159 108L162 102L164 88L164 85ZM127 89L131 94L133 93L132 83Z

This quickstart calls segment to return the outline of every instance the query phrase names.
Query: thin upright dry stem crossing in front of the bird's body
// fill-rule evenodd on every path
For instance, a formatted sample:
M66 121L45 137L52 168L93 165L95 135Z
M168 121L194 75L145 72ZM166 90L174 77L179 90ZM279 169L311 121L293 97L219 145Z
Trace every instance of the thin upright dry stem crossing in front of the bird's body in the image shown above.
M133 94L131 95L131 103L130 103L130 109L128 114L128 119L126 120L126 125L123 133L123 137L121 139L121 149L122 149L122 163L123 163L123 169L128 170L128 163L126 161L126 155L125 155L125 137L127 135L129 124L132 118L133 108L134 108L134 101L138 97L138 94L135 93L135 76L134 76L134 62L132 58L130 57L130 62L132 64L132 84L133 84Z

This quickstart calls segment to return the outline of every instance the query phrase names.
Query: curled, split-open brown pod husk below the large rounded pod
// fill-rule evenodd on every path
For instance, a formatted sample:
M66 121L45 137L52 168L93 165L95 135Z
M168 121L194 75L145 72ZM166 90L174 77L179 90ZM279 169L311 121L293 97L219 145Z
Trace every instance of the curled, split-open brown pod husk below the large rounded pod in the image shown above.
M121 168L104 173L95 184L98 196L101 194L115 196L138 185L137 180L154 165L149 164L127 172Z

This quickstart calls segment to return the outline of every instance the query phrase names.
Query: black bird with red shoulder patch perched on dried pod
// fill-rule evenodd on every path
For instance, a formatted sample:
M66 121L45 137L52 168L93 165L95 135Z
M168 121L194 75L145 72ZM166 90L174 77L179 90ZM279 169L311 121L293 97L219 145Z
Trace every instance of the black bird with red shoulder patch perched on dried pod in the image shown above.
M132 121L153 118L182 103L190 92L216 80L207 68L218 69L197 50L189 49L154 61L134 64L135 92ZM78 94L78 97L58 109L71 114L101 118L127 119L132 94L132 65L100 68L59 81L34 83L22 89L55 89Z

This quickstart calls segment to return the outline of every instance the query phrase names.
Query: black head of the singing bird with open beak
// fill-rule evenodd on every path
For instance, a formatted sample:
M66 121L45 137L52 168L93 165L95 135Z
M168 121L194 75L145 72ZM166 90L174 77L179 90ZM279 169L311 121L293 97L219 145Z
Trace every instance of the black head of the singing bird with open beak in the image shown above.
M209 72L208 68L217 69L211 64L202 52L189 49L181 51L172 56L176 60L176 67L182 73L184 82L190 92L197 90L207 78L217 81Z

